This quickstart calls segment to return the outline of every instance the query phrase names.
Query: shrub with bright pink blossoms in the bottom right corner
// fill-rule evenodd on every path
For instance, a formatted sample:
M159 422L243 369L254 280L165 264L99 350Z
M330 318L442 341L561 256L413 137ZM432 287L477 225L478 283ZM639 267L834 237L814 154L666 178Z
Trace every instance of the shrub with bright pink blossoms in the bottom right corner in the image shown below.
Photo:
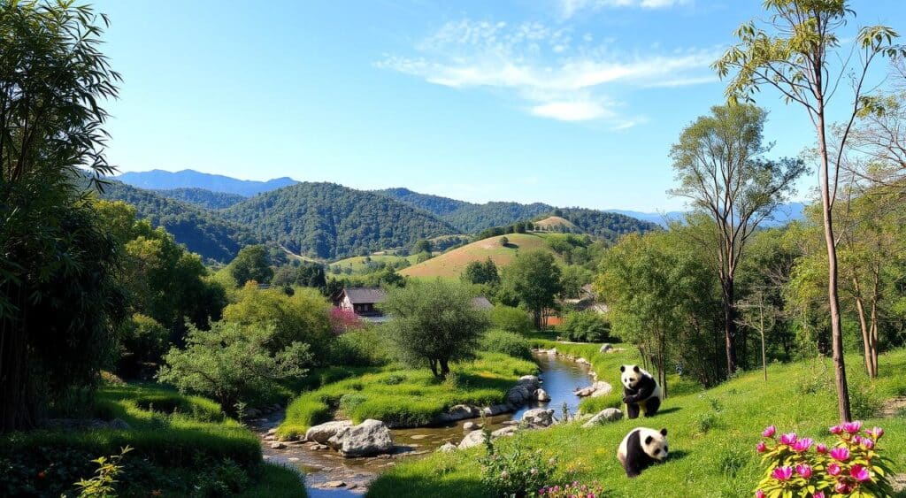
M863 498L891 496L890 460L880 454L881 427L862 431L862 422L830 428L836 441L817 443L795 433L777 437L775 426L761 433L756 446L767 464L757 498Z

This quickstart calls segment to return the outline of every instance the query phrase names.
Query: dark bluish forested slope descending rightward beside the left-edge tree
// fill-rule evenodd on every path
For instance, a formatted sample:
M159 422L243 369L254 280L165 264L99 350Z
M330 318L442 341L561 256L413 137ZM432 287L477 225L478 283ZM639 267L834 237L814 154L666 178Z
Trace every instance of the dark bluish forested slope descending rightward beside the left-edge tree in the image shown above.
M244 245L258 242L250 231L206 209L119 181L105 186L101 197L135 206L140 218L149 220L151 225L163 226L179 244L185 244L189 251L205 259L228 263Z

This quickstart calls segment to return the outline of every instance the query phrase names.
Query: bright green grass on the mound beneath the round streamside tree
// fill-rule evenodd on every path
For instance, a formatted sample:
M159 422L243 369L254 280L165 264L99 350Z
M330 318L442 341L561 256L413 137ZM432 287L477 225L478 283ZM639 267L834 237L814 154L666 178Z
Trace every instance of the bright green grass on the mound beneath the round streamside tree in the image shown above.
M434 378L428 369L373 368L295 398L286 408L286 419L277 434L284 438L302 435L308 427L331 420L335 412L356 423L377 418L424 425L454 405L500 403L517 378L536 371L532 361L488 352L454 366L454 375L446 380Z

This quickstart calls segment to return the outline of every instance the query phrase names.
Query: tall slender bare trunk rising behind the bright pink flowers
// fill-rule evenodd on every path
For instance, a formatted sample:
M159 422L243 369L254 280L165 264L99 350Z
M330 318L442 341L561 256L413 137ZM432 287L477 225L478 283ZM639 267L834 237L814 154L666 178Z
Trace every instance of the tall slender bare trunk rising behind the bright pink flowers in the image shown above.
M821 98L819 98L818 109L824 110L824 101ZM831 204L830 164L828 164L827 158L824 114L819 113L817 118L818 150L821 154L821 211L824 217L824 244L827 246L827 299L831 307L831 351L834 358L837 409L840 420L850 422L853 419L853 412L850 408L849 386L846 384L846 365L843 359L843 330L840 325L837 247L834 241L834 213ZM834 185L836 185L836 177L834 177Z

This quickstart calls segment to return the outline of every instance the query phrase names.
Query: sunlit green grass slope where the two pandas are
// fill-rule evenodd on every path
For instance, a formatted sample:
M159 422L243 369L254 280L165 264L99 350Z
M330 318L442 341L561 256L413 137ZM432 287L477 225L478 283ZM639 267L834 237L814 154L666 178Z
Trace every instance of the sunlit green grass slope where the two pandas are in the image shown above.
M595 362L601 378L617 385L614 361L631 355L612 353L599 365L590 346L557 344L558 350L581 351ZM593 356L593 358L589 358ZM865 406L877 406L884 399L906 393L906 350L882 355L880 378L868 382L861 360L849 357L853 399L864 397ZM619 370L617 370L619 371ZM775 364L768 369L768 381L760 371L743 373L717 388L691 392L679 385L668 397L657 417L622 420L594 428L579 424L528 431L501 440L500 446L522 444L540 449L558 462L561 482L574 478L598 481L609 497L636 496L751 496L760 477L755 445L765 426L775 424L782 431L829 441L827 427L837 421L833 390L833 369L827 359L794 364ZM861 403L861 402L860 402ZM856 404L856 403L854 403ZM865 409L865 408L860 408ZM893 459L896 472L906 470L906 418L861 418L869 426L882 426L886 436L881 448ZM615 453L622 437L636 426L667 427L670 430L670 458L651 467L636 479L628 479ZM487 496L480 484L477 455L484 448L453 454L430 455L421 461L401 463L371 486L370 497L406 496Z

